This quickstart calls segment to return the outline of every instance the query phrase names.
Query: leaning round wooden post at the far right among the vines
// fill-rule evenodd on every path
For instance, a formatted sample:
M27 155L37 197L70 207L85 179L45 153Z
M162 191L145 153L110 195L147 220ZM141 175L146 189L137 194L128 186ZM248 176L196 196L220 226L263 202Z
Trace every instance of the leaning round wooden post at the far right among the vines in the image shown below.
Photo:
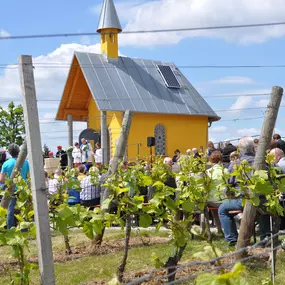
M275 122L278 115L278 110L282 100L283 89L278 86L272 87L271 97L268 103L268 109L265 114L263 122L258 148L254 159L255 170L265 169L265 154L270 147L272 140L272 133L274 130ZM239 237L237 242L237 249L245 248L250 243L250 238L254 229L254 221L256 217L256 207L250 202L246 202L243 210L243 217L241 220L241 227L239 231ZM242 251L236 254L236 260L241 259L246 254L246 251Z

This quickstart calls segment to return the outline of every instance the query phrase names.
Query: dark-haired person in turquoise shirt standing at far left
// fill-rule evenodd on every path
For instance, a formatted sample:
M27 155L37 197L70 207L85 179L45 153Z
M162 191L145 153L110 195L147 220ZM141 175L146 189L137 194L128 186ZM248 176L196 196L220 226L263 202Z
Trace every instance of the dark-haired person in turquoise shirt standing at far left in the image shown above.
M16 165L16 161L18 155L20 153L20 147L12 143L8 146L8 152L11 155L11 158L5 161L2 165L1 174L0 174L0 182L4 183L6 178L9 178L12 174L14 166ZM20 169L20 174L22 178L27 181L30 174L30 165L27 160L24 161L22 168ZM15 187L13 192L17 191L17 187ZM10 229L15 226L15 206L16 206L16 195L12 193L12 199L10 200L8 206L7 213L7 229Z

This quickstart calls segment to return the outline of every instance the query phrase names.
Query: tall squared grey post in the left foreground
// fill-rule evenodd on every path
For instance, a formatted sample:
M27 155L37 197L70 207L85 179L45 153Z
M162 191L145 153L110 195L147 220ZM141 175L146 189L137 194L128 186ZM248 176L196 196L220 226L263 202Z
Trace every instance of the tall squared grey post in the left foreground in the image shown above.
M41 134L32 57L19 57L27 147L31 166L31 188L37 231L39 271L42 285L54 285L54 265L47 204Z

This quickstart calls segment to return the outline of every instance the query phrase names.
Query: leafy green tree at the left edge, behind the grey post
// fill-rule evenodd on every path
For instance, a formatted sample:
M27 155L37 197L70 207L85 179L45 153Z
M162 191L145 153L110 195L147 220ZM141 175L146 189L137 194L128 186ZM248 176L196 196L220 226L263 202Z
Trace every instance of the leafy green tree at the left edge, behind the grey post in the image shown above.
M0 145L8 146L10 143L22 145L25 134L23 106L15 106L12 101L7 109L0 107Z

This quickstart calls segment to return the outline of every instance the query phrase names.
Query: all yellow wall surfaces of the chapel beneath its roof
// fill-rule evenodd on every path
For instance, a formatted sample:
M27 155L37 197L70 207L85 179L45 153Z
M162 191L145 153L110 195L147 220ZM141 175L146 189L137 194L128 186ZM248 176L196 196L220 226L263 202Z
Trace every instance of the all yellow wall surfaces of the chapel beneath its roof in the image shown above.
M93 99L89 103L88 127L100 132L100 112ZM114 154L114 146L119 138L122 122L121 112L107 112L107 125L110 131L110 147ZM185 115L159 115L135 113L131 125L128 141L127 155L130 160L149 155L147 137L154 136L154 128L157 124L165 127L166 155L173 156L175 149L185 152L188 148L203 146L205 149L208 140L208 118L201 116ZM153 149L154 151L154 149Z

